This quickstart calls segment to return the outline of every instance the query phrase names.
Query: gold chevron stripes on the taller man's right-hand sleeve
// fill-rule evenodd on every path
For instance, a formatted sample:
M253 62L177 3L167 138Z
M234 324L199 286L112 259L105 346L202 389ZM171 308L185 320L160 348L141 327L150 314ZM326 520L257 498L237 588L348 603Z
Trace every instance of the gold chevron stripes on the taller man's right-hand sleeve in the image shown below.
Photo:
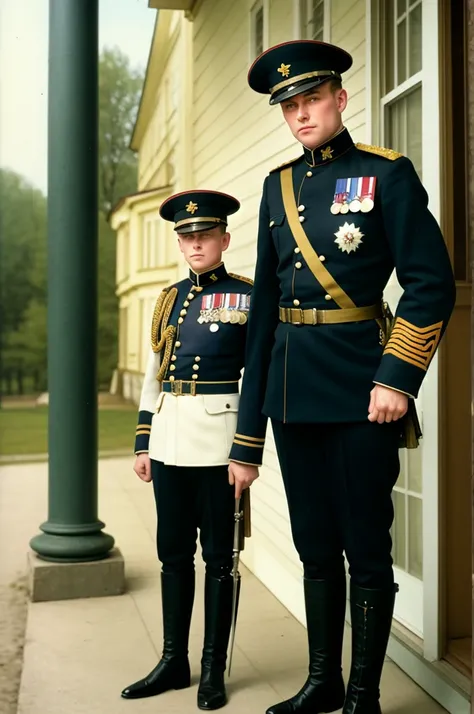
M384 355L394 355L426 372L441 337L442 322L417 327L397 317Z

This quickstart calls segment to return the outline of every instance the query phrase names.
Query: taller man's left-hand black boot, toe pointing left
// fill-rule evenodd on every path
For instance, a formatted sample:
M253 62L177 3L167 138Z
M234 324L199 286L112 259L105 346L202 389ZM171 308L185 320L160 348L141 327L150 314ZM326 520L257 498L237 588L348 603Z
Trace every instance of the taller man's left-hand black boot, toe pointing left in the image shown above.
M320 714L344 703L342 640L346 611L345 576L304 580L309 645L309 676L291 699L274 704L267 714Z

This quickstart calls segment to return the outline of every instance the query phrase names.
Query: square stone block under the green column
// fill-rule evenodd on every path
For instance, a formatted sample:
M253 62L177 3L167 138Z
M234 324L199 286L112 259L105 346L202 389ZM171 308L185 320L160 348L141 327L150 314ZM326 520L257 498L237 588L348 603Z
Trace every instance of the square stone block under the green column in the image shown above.
M28 590L32 602L109 597L125 590L125 567L118 548L106 559L51 563L28 553Z

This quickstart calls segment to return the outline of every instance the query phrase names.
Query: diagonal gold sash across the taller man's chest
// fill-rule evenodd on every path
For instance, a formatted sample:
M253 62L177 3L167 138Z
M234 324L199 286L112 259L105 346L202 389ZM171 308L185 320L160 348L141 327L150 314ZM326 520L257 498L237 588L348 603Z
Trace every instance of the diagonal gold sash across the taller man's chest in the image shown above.
M292 166L283 169L280 174L280 181L283 205L288 218L288 224L309 269L318 283L322 285L327 294L332 297L334 302L339 305L339 307L356 307L356 304L350 299L349 295L347 295L341 286L336 283L329 270L327 270L327 268L321 263L318 254L311 245L309 238L301 225L298 207L296 205L295 192L293 191Z

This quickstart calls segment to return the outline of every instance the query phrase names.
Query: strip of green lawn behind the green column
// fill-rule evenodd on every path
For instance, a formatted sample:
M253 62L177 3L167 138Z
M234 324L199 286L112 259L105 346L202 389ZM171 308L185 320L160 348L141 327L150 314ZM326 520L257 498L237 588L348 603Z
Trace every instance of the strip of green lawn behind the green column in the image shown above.
M133 453L137 412L133 407L99 410L99 450ZM42 454L48 450L48 409L0 409L0 455Z

